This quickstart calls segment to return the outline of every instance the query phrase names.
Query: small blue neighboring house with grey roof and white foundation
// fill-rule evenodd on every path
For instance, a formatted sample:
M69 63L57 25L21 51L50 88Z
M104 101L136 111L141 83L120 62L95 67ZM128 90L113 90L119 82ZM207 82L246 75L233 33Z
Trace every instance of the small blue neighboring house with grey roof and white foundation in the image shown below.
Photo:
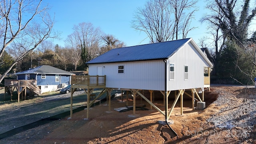
M36 80L36 86L41 93L55 91L66 84L70 84L73 74L48 65L38 66L30 70L16 73L18 80Z

